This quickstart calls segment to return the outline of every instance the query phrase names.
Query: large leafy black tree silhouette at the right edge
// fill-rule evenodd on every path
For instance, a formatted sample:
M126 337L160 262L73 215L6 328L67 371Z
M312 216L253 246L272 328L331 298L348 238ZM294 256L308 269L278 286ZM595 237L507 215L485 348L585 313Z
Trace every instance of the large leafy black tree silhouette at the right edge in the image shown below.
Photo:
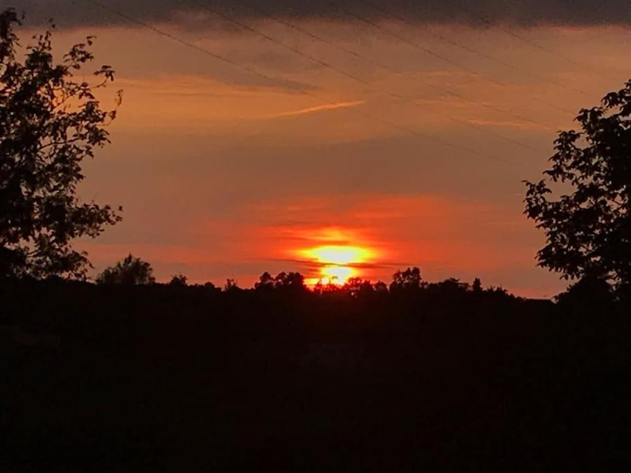
M631 81L561 132L542 181L526 181L526 215L546 234L539 265L562 277L631 283ZM553 199L552 184L568 193Z

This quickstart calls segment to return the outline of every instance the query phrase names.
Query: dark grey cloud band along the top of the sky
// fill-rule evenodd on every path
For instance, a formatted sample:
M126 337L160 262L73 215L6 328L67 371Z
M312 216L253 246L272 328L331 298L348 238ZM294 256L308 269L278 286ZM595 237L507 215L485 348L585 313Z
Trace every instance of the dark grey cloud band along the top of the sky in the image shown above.
M205 12L202 5L231 15L256 19L257 10L288 18L350 19L329 0L99 0L109 8L143 21L161 21L177 12ZM242 2L242 3L241 3ZM377 5L378 11L371 6ZM28 14L30 24L54 18L60 26L125 24L125 19L106 12L89 0L14 0L3 2ZM364 17L382 19L390 15L413 21L465 23L485 26L493 22L525 26L540 24L590 25L629 24L631 2L627 0L337 0L337 5ZM0 7L1 8L1 7Z

